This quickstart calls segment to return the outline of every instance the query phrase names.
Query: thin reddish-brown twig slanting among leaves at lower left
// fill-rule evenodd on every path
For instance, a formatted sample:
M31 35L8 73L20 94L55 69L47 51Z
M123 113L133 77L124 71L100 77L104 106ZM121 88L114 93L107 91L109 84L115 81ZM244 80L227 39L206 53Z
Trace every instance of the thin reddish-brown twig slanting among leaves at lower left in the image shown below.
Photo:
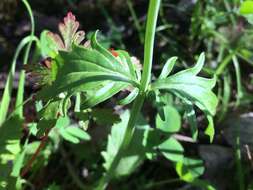
M21 176L22 177L24 177L27 174L27 172L31 169L31 166L32 166L33 162L38 157L38 155L41 152L41 150L45 147L47 139L48 139L48 135L49 135L49 132L51 131L51 129L52 128L46 130L45 135L42 137L42 139L40 141L40 145L38 146L38 148L35 151L35 153L32 155L32 158L28 161L28 164L22 170L22 172L21 172Z

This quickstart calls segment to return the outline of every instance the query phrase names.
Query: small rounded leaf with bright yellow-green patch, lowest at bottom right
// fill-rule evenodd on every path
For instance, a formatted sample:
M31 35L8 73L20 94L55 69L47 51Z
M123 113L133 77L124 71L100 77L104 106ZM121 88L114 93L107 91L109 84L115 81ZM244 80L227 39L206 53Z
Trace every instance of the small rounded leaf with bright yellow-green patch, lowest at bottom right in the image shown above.
M176 171L180 179L193 182L204 173L204 164L202 160L185 157L183 161L176 163Z

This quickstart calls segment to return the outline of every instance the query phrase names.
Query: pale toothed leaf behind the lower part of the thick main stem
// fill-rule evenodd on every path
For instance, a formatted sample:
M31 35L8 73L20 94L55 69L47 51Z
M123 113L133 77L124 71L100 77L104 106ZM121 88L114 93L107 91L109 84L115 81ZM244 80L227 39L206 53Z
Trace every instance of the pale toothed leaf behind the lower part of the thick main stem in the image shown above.
M103 166L108 170L116 156L119 147L123 141L122 137L126 131L130 113L125 111L120 117L121 122L112 126L111 134L108 137L106 151L102 152L105 159ZM129 148L124 152L117 168L115 169L115 177L125 176L133 172L145 158L145 147L143 145L144 132L148 129L148 125L143 118L139 118L136 124L136 130L132 138Z

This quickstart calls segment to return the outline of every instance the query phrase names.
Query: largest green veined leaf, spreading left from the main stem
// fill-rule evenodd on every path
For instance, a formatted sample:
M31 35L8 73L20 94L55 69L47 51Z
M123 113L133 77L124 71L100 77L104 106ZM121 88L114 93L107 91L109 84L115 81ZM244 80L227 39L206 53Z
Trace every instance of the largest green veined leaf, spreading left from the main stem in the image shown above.
M56 57L58 71L55 82L42 89L38 99L49 100L62 92L72 95L82 92L81 109L105 101L129 85L138 87L137 76L130 67L129 58L114 57L96 41L91 48L74 45L71 52L60 52ZM133 66L133 65L132 65Z

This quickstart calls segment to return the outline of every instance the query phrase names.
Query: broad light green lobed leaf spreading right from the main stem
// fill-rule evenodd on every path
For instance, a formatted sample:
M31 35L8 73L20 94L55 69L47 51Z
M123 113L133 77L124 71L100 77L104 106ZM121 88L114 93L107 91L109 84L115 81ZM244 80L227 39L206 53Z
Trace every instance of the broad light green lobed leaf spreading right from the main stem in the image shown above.
M212 92L212 88L215 86L216 79L196 76L203 67L203 62L204 54L201 54L193 68L178 72L166 79L158 79L152 84L152 88L168 90L193 102L201 110L214 115L218 99Z

